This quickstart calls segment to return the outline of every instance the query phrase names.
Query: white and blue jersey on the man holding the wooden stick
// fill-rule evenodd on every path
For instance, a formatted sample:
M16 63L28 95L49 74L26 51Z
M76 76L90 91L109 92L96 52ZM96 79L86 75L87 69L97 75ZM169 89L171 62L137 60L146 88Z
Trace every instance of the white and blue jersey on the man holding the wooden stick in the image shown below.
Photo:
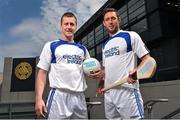
M105 86L127 77L130 70L137 66L137 57L148 54L140 36L133 31L118 31L110 37L103 47L103 65L105 66ZM122 86L139 88L139 83Z

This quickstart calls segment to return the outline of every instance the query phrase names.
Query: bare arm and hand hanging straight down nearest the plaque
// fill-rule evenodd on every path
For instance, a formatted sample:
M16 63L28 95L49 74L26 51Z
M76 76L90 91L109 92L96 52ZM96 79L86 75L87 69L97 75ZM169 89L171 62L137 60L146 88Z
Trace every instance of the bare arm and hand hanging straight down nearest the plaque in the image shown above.
M46 85L46 76L47 76L47 71L43 70L43 69L39 69L38 74L37 74L37 79L36 79L36 86L35 86L35 111L37 116L43 116L44 112L47 112L45 103L43 101L43 92L44 92L44 88Z

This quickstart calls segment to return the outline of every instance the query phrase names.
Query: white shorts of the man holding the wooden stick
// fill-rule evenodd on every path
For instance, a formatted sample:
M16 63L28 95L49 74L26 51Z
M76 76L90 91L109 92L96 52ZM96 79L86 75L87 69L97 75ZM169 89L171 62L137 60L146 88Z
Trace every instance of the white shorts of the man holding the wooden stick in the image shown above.
M144 117L143 100L137 89L121 87L105 92L107 119L141 119Z

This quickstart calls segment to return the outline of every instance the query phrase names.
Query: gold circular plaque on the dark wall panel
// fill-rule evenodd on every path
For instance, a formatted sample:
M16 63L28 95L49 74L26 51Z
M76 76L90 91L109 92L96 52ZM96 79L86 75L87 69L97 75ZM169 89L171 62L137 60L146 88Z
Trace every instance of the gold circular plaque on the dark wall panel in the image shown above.
M15 75L20 80L26 80L32 74L32 67L27 62L19 63L15 68Z

